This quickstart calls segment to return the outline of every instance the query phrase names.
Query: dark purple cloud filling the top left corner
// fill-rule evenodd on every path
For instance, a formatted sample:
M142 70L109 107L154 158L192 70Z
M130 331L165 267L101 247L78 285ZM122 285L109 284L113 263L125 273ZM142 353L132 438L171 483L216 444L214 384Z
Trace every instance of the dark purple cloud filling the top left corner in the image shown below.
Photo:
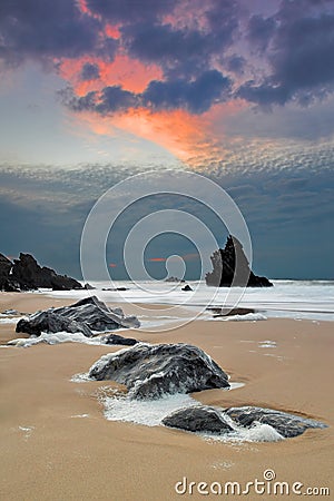
M73 1L2 0L0 58L79 57L100 49L99 22L80 14Z

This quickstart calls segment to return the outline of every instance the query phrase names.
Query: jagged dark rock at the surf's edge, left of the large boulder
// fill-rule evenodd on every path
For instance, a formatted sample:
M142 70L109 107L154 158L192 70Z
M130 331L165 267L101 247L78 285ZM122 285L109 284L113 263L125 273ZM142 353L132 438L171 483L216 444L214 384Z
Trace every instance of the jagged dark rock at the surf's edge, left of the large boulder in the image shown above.
M95 332L139 327L139 325L137 317L125 316L121 308L110 310L96 296L90 296L70 306L49 308L22 318L18 322L16 331L35 336L39 336L42 332L81 332L85 336L91 337Z

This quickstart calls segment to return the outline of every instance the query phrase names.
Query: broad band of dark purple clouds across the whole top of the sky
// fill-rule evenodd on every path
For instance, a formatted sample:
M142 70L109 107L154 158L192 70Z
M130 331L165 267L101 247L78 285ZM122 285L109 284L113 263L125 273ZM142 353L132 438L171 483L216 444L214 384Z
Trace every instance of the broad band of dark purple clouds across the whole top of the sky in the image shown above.
M200 114L224 101L229 87L234 97L268 108L288 101L305 106L333 92L332 0L282 0L277 11L266 16L255 14L259 2L252 1L247 14L242 0L86 0L86 4L87 11L75 0L0 2L0 59L9 65L27 59L61 65L62 58L84 55L110 61L118 53L161 69L161 81L151 81L141 95L110 81L99 95L65 100L73 110L107 114L147 105L184 106ZM119 39L106 35L107 23L117 26ZM219 77L224 70L237 81ZM91 61L76 77L97 80L98 68Z

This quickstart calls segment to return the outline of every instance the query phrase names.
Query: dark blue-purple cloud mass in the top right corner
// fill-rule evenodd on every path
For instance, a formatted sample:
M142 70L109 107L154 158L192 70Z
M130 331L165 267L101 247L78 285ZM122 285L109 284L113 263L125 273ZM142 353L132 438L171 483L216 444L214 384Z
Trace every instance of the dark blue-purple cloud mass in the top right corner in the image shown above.
M331 2L283 1L272 18L253 17L248 37L266 49L272 72L247 81L237 95L258 105L302 105L333 92L334 12ZM317 9L316 9L317 8Z

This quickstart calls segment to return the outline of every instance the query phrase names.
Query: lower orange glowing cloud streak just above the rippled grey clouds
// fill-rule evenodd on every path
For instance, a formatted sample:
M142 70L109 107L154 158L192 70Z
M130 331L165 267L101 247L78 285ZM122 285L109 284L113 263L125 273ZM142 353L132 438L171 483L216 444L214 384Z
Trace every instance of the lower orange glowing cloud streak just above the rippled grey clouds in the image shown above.
M151 111L147 108L129 109L112 116L91 112L80 120L97 135L117 136L124 130L161 146L189 166L226 157L224 118L239 112L240 102L216 105L198 116L186 110ZM215 125L219 121L219 134Z

